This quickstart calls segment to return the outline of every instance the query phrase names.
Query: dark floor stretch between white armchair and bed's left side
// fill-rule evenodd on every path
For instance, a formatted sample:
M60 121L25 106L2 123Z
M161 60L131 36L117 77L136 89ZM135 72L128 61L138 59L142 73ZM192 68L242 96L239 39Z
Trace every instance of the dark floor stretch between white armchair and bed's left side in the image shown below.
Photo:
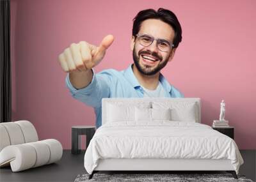
M74 181L78 174L85 173L84 155L72 155L70 150L63 150L60 161L28 169L12 172L10 167L0 169L0 181Z

